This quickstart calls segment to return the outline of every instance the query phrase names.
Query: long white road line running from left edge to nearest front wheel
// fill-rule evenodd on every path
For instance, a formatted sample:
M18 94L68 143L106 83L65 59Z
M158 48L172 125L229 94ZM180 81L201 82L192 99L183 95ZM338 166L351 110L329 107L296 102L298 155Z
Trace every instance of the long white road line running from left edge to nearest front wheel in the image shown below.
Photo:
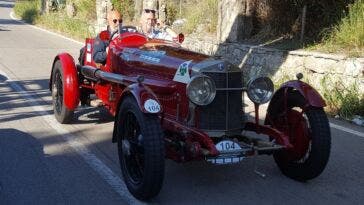
M19 84L14 80L9 78L9 76L0 70L0 74L7 78L4 82L8 83L15 91L19 93L22 97L27 99L27 103L32 107L35 112L38 112L40 116L51 126L59 135L61 135L64 140L69 144L85 161L86 163L98 173L112 188L118 193L122 199L124 199L128 204L145 204L137 199L135 199L128 191L123 180L120 179L107 165L105 165L99 158L96 157L86 146L75 135L70 134L62 125L50 115L46 109L41 106L33 94L24 90ZM110 142L111 143L111 142Z

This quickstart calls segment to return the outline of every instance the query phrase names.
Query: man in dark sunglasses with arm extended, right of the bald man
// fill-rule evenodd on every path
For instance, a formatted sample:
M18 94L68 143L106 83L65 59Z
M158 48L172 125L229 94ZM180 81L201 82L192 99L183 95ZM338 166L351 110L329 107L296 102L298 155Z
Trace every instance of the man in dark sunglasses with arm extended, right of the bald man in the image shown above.
M155 28L157 19L155 18L155 10L144 9L142 17L140 18L139 32L146 35L148 38L157 38L172 41L176 38L177 34L172 30L158 30Z

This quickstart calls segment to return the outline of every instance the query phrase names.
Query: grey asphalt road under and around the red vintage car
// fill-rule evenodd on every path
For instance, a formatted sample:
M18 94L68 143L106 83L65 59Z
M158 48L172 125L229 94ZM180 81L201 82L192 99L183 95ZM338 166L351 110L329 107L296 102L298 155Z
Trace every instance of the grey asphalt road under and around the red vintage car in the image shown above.
M54 120L53 58L77 58L81 45L12 20L12 6L0 0L0 204L140 203L125 190L111 116L80 108L71 125ZM330 161L314 180L284 177L269 156L229 166L167 161L163 189L150 203L362 204L364 129L330 121L347 130L331 130Z

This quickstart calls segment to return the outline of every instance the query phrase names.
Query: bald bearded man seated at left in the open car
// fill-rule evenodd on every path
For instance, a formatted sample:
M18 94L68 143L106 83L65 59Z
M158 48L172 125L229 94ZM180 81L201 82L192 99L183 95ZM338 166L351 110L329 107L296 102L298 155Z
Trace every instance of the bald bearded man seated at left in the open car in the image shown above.
M101 31L95 38L92 58L95 63L106 63L106 57L109 52L109 41L111 35L118 31L119 24L123 22L121 14L116 10L111 10L107 14L107 30Z

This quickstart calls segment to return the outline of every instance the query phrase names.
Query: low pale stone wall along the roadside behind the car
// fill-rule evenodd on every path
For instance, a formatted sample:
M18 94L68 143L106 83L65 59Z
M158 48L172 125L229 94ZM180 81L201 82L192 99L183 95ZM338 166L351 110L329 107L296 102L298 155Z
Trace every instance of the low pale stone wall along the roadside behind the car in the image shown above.
M340 55L307 51L282 51L262 46L239 43L222 43L210 39L186 38L182 45L190 50L208 55L222 56L245 71L248 78L258 75L271 76L275 82L295 79L299 72L304 81L322 89L323 80L327 86L343 83L349 87L357 83L364 94L364 58L347 58Z

